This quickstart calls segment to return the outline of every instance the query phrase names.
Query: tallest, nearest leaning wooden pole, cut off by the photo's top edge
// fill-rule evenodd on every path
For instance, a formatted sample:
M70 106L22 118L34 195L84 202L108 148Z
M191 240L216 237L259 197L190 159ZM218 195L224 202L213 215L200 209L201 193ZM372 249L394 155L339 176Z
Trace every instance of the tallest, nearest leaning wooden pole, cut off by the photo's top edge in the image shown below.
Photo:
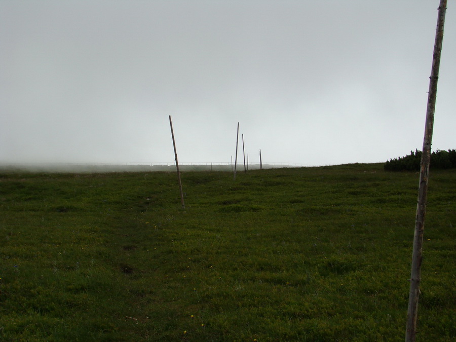
M432 59L431 77L429 82L428 107L421 157L420 184L418 188L418 204L416 206L415 232L413 236L413 254L410 273L410 292L408 297L407 329L405 342L416 339L416 319L418 298L420 294L421 262L423 260L423 233L428 197L429 164L431 161L432 130L434 126L435 101L437 96L437 80L439 78L440 55L443 43L443 25L445 23L447 0L440 0L438 9L437 30L435 33L434 55Z

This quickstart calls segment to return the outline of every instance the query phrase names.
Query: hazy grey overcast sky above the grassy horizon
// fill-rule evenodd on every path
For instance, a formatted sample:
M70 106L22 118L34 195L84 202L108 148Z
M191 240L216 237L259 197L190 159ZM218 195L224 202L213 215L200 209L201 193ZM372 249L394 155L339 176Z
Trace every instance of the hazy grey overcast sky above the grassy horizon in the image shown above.
M421 149L438 0L0 0L0 162L384 162ZM433 150L456 148L456 6ZM239 159L239 157L238 157Z

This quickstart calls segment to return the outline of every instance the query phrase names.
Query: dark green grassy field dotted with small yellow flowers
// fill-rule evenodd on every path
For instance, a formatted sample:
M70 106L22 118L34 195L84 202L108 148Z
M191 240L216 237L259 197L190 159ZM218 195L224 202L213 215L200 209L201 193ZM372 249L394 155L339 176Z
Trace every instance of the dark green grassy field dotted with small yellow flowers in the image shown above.
M416 173L0 173L0 339L402 341ZM417 339L456 338L456 172L432 171Z

